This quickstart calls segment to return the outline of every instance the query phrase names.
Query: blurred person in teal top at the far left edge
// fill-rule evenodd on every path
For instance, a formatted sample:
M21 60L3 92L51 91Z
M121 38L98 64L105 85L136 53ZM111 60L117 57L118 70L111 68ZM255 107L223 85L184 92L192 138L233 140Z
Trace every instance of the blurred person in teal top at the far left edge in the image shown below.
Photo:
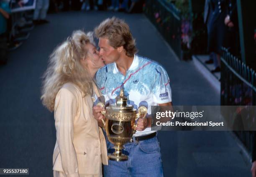
M10 18L8 0L0 0L0 64L7 63L7 19Z

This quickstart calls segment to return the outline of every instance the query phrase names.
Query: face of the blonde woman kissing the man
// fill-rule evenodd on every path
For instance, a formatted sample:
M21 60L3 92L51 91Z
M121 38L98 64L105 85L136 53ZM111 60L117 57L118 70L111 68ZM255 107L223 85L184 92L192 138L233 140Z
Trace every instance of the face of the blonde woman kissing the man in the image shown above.
M87 44L85 47L88 50L87 57L85 58L87 60L88 68L98 70L105 66L104 61L99 56L99 51L97 51L96 47L92 43Z

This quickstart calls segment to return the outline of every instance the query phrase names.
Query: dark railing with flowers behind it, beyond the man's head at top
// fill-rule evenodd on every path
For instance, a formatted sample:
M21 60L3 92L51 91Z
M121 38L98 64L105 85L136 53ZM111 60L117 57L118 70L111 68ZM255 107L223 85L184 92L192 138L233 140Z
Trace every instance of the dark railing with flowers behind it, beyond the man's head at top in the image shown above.
M166 0L147 0L144 13L164 39L181 58L181 16L179 10Z

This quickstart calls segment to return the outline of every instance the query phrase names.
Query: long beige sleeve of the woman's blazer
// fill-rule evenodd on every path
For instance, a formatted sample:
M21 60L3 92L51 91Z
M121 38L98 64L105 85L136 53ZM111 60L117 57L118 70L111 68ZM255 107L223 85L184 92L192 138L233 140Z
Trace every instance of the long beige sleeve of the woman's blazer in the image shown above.
M61 165L67 177L79 177L77 154L73 145L73 121L77 108L74 94L61 88L55 99L55 127Z

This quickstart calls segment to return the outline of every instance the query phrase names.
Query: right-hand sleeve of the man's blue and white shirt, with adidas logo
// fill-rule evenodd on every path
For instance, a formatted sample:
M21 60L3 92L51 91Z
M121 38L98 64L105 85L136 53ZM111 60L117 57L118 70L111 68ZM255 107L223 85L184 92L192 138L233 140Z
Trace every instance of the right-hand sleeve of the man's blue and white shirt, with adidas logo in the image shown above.
M156 104L164 104L172 101L170 79L162 66L155 68L153 100Z

